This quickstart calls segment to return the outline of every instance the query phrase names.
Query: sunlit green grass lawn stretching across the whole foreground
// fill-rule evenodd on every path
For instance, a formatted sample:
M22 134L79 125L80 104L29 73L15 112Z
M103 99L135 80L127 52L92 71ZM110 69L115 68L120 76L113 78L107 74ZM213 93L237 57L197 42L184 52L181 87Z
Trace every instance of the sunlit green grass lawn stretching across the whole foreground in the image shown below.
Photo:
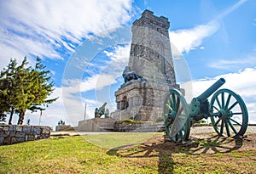
M193 154L195 150L187 147L173 149L173 143L167 143L170 149L163 143L139 144L152 135L110 133L0 146L0 173L253 173L255 170L255 149ZM217 144L198 143L196 148L214 149L214 145Z

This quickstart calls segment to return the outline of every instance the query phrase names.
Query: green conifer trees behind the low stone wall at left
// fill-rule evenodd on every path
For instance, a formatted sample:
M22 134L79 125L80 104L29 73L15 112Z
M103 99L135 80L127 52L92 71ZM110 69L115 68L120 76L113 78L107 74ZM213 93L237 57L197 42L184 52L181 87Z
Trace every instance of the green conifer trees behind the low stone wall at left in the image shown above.
M18 124L21 125L26 109L43 110L43 107L48 107L57 98L48 99L54 91L54 82L50 81L50 72L44 70L41 59L37 58L35 68L26 67L26 57L20 66L16 65L16 60L11 59L8 68L1 71L0 83L3 89L0 91L0 104L4 107L0 113L10 113L9 124L14 112L18 113Z

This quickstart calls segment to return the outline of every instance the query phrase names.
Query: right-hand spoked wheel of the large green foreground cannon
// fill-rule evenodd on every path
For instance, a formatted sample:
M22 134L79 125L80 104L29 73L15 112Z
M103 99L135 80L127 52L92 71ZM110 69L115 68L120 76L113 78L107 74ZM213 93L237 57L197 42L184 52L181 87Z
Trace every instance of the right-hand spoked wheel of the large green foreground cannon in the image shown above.
M212 96L211 121L220 136L243 136L247 131L248 113L242 98L229 89L220 89ZM216 115L217 114L217 115Z

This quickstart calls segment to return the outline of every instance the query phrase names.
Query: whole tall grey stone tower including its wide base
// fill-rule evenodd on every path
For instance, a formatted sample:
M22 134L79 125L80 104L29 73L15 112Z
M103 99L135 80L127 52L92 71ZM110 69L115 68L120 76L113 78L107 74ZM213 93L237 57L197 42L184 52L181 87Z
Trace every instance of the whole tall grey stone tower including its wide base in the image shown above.
M176 84L172 50L166 17L145 10L132 25L129 65L123 76L125 83L115 93L117 109L113 118L154 121L162 114L162 104L170 88Z

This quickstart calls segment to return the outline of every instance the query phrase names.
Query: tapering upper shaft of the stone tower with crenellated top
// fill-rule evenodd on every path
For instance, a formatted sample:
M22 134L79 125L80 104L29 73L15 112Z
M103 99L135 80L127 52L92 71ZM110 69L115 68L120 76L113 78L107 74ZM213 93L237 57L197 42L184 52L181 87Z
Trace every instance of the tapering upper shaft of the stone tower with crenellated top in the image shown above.
M132 25L129 65L138 75L150 82L175 85L172 51L169 40L170 22L145 10Z

